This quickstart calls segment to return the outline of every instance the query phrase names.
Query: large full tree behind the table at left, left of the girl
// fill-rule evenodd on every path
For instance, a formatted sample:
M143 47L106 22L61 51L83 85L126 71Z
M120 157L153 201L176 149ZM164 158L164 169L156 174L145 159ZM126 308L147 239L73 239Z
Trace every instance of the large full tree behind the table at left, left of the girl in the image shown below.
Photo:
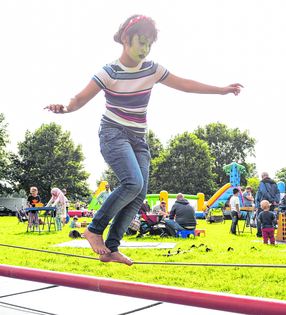
M12 163L17 190L29 192L29 187L37 186L44 202L52 187L66 188L71 199L90 195L81 146L75 146L70 133L59 125L43 124L34 133L26 131L18 149Z

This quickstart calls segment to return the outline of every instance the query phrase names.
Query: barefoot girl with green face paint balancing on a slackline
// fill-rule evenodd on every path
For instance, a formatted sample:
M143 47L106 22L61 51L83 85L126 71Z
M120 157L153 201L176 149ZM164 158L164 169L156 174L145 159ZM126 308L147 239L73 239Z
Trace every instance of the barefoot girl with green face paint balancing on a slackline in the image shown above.
M145 58L156 39L157 29L151 18L144 15L129 17L114 35L114 40L123 46L121 56L97 72L68 106L51 104L46 107L54 113L70 113L80 109L101 90L105 93L100 149L120 185L96 212L85 231L93 251L103 262L132 264L118 247L147 193L150 152L145 140L146 114L153 86L161 83L188 93L220 95L238 95L242 87L239 83L217 87L183 79L160 64L147 61ZM111 219L104 242L102 234Z

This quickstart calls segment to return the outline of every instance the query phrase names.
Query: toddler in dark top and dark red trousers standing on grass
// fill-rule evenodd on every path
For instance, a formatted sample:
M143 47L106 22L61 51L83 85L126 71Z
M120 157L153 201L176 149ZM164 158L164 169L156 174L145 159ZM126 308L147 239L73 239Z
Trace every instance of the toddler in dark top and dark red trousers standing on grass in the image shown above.
M263 237L263 243L268 244L268 239L270 244L275 245L274 237L274 227L276 224L275 214L270 210L270 202L268 200L262 200L260 202L260 207L263 210L258 215L258 220L261 222L261 231Z

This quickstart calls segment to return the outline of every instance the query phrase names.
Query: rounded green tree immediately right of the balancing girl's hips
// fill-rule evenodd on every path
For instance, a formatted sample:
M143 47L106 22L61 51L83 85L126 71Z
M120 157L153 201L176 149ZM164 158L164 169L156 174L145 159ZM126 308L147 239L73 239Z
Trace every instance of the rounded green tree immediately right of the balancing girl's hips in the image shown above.
M188 194L203 192L210 196L216 188L212 165L208 144L185 132L171 139L167 148L154 160L150 190L153 193L161 190Z

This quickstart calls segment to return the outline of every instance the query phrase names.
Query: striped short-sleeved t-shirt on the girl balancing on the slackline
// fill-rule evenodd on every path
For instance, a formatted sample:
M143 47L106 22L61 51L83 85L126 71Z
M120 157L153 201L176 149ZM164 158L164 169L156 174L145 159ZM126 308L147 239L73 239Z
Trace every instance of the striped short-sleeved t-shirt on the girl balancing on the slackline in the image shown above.
M143 60L134 68L125 67L119 60L104 66L93 76L105 92L106 111L102 120L145 134L151 90L168 74L164 67L153 61Z

